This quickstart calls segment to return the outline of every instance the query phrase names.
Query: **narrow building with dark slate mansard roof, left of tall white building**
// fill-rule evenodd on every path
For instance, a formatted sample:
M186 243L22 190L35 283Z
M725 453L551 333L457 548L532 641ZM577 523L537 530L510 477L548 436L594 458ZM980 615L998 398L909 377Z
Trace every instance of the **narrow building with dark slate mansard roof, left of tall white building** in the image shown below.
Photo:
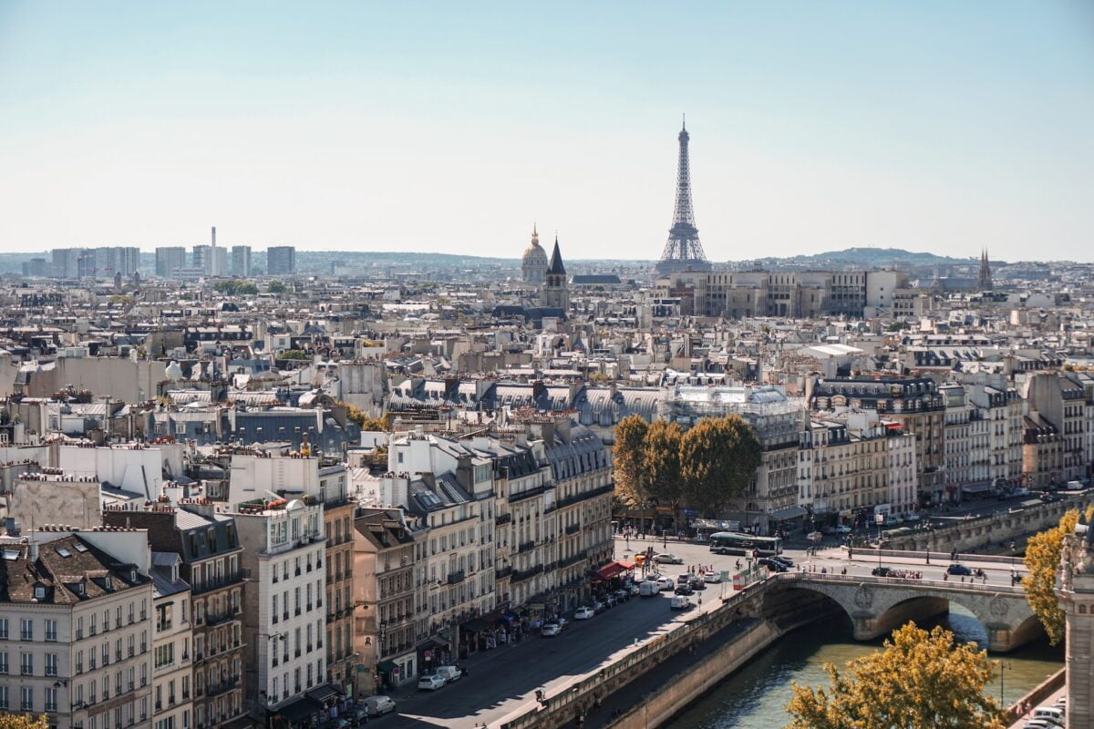
M243 696L243 546L231 515L206 499L182 499L177 507L108 509L108 526L148 530L153 552L179 556L179 577L190 586L193 623L190 684L193 727L213 729L246 721Z

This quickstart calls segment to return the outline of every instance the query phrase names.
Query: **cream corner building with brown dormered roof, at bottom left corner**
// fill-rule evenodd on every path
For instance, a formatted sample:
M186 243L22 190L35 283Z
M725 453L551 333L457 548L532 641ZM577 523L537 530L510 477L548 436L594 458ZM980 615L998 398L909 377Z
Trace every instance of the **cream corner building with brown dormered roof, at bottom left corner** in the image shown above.
M59 729L152 727L143 531L0 538L0 712Z

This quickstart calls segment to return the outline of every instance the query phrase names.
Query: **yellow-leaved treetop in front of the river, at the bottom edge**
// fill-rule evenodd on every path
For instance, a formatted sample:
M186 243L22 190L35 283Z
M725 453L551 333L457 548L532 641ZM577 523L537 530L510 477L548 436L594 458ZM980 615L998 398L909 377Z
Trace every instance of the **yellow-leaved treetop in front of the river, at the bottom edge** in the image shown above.
M793 686L785 729L1002 729L1003 712L986 696L994 673L988 651L954 645L950 631L908 623L881 650L841 673L825 666L827 689Z

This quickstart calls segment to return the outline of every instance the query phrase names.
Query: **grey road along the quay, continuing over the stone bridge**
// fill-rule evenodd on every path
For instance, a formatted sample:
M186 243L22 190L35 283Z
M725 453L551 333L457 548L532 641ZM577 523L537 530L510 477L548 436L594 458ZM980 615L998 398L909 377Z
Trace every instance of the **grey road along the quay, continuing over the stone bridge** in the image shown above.
M661 565L663 575L673 576L684 572L689 565L713 565L714 569L733 572L737 556L711 554L706 544L668 540L667 546L660 540L616 539L616 557L630 560L636 552L653 546L656 552L670 552L684 560L683 565ZM839 546L821 549L815 556L806 555L803 549L788 549L785 555L799 565L819 573L822 569L840 574L847 568L849 575L869 576L877 566L877 558L868 554L853 554ZM932 560L927 564L921 555L883 558L882 564L898 569L923 573L924 579L943 578L948 561ZM1020 572L1021 565L977 562L975 555L963 557L962 564L981 567L987 574L987 587L1011 584L1011 569ZM961 578L950 579L959 584ZM966 583L969 578L965 578ZM978 578L976 585L981 585ZM570 621L569 626L558 637L531 636L512 646L482 651L461 661L468 674L456 683L435 692L417 691L407 686L393 694L398 704L395 714L376 719L383 727L444 726L452 729L472 729L476 725L494 726L507 715L531 706L535 702L535 691L544 689L548 694L567 685L575 677L596 670L610 662L614 655L630 647L636 640L642 642L672 630L674 623L687 621L720 604L720 596L729 597L731 585L710 585L697 591L693 602L702 599L695 609L677 613L668 609L667 597L654 599L632 598L628 602L612 608L586 621ZM569 618L569 616L568 616Z

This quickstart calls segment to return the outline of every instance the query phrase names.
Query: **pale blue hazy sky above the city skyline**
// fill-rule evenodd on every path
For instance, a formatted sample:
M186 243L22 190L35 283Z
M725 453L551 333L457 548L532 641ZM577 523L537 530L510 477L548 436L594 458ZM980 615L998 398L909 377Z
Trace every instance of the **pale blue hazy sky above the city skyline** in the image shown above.
M1094 260L1094 2L0 0L0 251Z

